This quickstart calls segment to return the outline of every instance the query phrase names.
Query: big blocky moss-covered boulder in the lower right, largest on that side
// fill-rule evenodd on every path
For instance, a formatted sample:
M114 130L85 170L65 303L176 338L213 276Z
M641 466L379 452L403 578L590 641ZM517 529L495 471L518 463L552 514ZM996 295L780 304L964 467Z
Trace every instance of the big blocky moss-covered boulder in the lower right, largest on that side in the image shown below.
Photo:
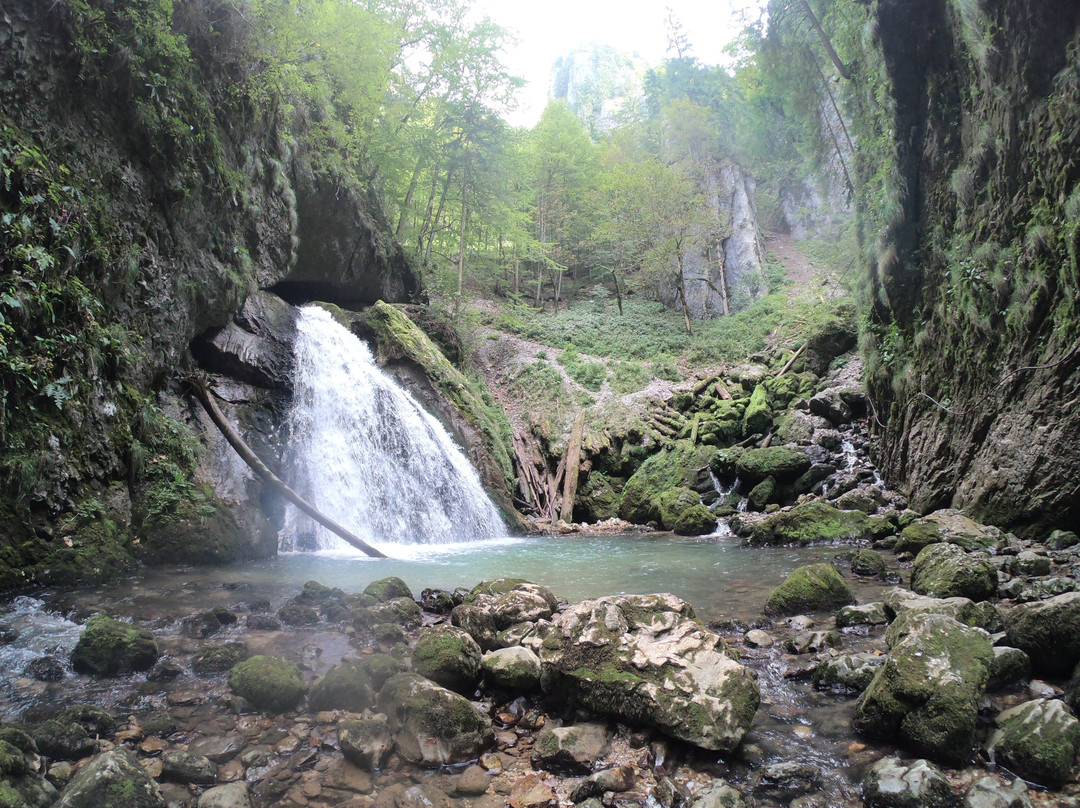
M945 615L915 615L855 703L852 724L872 738L963 765L993 660L985 631Z

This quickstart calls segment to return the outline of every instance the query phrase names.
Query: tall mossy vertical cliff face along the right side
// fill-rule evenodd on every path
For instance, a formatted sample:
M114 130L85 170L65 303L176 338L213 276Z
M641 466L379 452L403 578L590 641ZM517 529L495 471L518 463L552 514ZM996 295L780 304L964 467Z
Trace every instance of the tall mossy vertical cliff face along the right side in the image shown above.
M881 217L863 211L880 464L920 510L1077 529L1080 6L870 8L895 133Z

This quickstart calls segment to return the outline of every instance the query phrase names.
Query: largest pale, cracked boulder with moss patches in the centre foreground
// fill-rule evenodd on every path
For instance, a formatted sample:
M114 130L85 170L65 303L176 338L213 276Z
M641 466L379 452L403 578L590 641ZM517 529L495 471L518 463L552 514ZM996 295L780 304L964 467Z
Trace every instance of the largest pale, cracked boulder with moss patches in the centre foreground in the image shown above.
M730 752L750 728L757 683L674 595L583 601L553 623L540 649L546 690L707 750Z

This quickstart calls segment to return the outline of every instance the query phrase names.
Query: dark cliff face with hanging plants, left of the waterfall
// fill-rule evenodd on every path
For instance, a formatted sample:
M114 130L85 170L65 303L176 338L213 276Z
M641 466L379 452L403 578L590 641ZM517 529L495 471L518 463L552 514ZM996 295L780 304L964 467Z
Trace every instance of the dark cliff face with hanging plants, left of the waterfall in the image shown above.
M218 0L0 12L0 588L273 552L205 484L189 344L260 287L422 294L261 83L249 29Z

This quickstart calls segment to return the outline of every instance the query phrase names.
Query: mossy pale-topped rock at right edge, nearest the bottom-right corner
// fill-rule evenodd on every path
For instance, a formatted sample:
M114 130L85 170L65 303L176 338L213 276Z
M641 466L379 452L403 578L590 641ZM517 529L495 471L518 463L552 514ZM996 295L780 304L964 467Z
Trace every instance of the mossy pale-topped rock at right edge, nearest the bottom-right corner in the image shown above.
M1080 722L1057 699L1035 699L998 715L990 759L1025 780L1057 787L1076 771Z

